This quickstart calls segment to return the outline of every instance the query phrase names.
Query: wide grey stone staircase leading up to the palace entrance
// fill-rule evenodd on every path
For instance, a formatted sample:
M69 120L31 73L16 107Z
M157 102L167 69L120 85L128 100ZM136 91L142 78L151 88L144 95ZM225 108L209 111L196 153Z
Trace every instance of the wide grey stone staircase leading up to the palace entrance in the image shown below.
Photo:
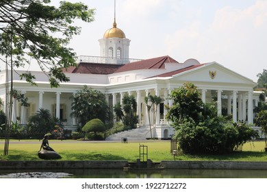
M150 138L150 129L148 126L142 126L133 130L118 132L108 136L106 141L121 141L122 138L127 138L128 141L144 141Z

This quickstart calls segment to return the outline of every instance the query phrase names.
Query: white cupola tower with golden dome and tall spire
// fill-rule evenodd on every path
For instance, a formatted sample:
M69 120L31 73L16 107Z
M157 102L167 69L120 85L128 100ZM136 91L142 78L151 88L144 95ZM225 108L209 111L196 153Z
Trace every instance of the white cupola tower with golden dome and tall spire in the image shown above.
M126 38L123 30L117 28L116 5L114 13L113 27L107 29L103 38L99 39L100 55L105 58L105 63L125 64L129 62L129 45L131 40Z

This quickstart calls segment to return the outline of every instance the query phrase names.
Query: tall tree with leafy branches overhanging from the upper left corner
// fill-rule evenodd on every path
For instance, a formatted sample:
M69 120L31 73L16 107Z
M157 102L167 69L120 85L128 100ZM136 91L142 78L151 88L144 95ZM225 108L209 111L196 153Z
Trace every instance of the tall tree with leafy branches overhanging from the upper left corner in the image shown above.
M94 10L84 3L61 1L58 8L50 3L50 0L0 1L0 55L5 56L0 57L0 60L5 63L7 72L8 69L11 71L10 77L6 77L5 88L5 98L10 98L10 101L6 99L5 104L7 121L4 155L8 155L9 146L12 97L8 95L8 91L13 92L13 70L30 64L33 58L47 74L51 87L58 87L60 82L68 82L69 78L62 69L74 66L76 55L66 45L80 32L80 27L73 23L75 19L85 22L94 19ZM36 77L30 72L19 75L21 79L36 85Z

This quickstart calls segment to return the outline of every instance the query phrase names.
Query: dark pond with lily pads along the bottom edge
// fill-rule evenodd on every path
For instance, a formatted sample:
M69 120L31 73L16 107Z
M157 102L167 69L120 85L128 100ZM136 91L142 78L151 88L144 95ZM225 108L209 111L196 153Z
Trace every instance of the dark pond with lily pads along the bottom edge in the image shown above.
M267 170L121 169L0 170L0 178L267 178Z

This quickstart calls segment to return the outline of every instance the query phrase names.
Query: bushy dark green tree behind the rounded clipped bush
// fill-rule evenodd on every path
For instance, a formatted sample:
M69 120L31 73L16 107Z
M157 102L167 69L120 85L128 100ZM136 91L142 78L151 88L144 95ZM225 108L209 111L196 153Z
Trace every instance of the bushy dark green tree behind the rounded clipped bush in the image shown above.
M92 119L100 119L103 122L109 120L110 108L107 105L105 94L84 86L72 97L73 103L71 117L78 119L81 128Z

